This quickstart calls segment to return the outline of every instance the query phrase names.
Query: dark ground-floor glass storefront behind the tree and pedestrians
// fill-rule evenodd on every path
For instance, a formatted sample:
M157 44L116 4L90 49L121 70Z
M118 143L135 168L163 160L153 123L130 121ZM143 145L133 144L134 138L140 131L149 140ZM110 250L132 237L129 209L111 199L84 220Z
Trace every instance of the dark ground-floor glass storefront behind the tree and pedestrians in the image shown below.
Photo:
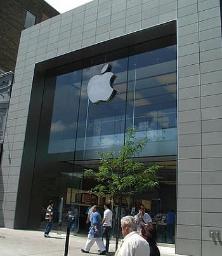
M143 163L145 163L144 158ZM86 162L84 164L81 170L86 168ZM170 241L167 239L166 213L171 209L174 212L176 210L176 161L155 161L155 164L161 166L157 172L159 187L153 190L148 189L142 194L122 198L121 217L136 215L138 207L143 204L157 228L157 241L159 243L174 243L174 229L173 238ZM98 162L91 161L88 166L96 168ZM73 215L75 221L71 226L70 234L84 236L89 230L89 225L86 223L89 208L92 205L98 205L102 217L104 203L110 202L113 211L112 237L115 238L118 225L119 199L111 198L110 195L103 198L91 194L89 190L95 186L95 180L84 178L83 173L83 171L48 173L42 198L41 229L44 229L45 226L44 214L49 199L54 199L56 202L53 231L65 233L68 216Z

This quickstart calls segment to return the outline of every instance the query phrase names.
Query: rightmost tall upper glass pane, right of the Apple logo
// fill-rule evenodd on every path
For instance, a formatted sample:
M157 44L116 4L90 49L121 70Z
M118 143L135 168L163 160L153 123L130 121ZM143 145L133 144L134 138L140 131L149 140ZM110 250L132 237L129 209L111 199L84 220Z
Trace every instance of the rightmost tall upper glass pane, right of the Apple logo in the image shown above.
M176 154L176 46L129 57L127 114L143 156Z

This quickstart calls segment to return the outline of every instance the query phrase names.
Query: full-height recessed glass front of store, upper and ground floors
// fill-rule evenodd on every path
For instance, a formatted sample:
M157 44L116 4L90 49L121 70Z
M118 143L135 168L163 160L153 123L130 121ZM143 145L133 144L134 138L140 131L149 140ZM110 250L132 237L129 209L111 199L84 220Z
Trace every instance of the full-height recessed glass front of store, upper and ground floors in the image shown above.
M55 199L54 228L65 231L67 213L72 212L75 215L72 231L87 232L88 207L96 203L102 209L103 203L111 198L89 194L95 180L86 179L84 169L98 168L98 151L114 151L117 156L128 127L135 128L138 140L148 138L138 156L146 166L152 165L156 158L165 159L166 163L175 159L177 53L175 41L167 42L151 48L148 42L127 46L46 71L30 200L30 227L44 228L45 207L49 199ZM95 90L89 90L89 81L93 81ZM171 173L165 172L165 164L162 166L159 180L168 179L168 183L160 184L159 189L123 198L122 215L131 214L140 203L148 211L153 210L156 207L153 198L161 198L163 207L174 208L175 163L176 160L171 161ZM172 184L169 179L173 180ZM165 197L167 192L171 192L170 200ZM117 231L118 204L114 198L113 236ZM38 217L39 208L42 212Z

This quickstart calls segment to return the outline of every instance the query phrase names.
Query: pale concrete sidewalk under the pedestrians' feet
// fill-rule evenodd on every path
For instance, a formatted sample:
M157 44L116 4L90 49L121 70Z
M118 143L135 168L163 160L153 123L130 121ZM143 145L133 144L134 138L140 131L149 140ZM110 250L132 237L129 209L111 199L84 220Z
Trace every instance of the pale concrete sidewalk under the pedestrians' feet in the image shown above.
M0 255L1 256L63 256L65 252L66 234L56 234L50 232L51 238L44 238L42 231L30 231L20 229L0 228ZM85 256L81 252L86 243L86 236L69 237L69 256ZM170 256L175 254L173 245L159 246L162 256ZM107 256L115 253L115 239L110 241L110 253ZM88 255L99 255L98 247L95 243ZM180 255L181 256L181 255Z

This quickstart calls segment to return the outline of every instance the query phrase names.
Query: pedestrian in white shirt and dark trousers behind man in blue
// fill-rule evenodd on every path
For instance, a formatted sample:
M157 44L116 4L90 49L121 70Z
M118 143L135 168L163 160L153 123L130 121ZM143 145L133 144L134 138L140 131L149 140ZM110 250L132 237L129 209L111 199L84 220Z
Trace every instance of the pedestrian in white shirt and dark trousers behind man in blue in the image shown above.
M112 210L110 210L110 203L105 203L103 212L103 220L101 221L101 225L103 227L103 237L105 237L105 248L108 252L108 248L110 245L110 232L112 228Z

